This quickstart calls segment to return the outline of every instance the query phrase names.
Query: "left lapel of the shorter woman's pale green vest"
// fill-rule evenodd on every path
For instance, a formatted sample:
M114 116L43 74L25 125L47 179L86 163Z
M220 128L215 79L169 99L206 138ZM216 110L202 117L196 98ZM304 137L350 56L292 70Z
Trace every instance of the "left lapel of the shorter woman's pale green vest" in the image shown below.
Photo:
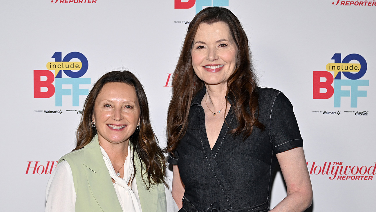
M114 184L103 160L98 135L94 136L91 142L84 147L83 165L89 168L86 169L86 177L90 191L100 208L103 211L123 212L115 192ZM148 210L143 211L147 212Z

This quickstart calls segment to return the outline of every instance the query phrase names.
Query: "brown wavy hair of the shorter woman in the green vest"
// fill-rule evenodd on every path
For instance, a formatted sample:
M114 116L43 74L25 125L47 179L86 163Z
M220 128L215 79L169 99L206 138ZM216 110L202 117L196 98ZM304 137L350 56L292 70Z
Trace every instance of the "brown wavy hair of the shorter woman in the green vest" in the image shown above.
M147 188L149 189L150 185L156 185L158 183L164 183L167 186L167 183L164 180L166 175L166 162L164 154L161 148L159 148L158 139L156 138L152 125L150 124L149 104L147 102L146 94L141 82L139 82L136 76L129 71L123 70L106 73L98 79L96 84L94 84L85 100L85 104L83 105L82 117L76 132L77 145L72 151L86 146L97 134L96 128L91 127L94 103L102 90L103 85L108 82L123 82L132 85L136 90L138 104L141 111L141 127L139 130L136 130L129 139L133 144L132 160L134 173L136 173L134 156L137 154L140 159L141 170L143 170L144 165L146 168L147 180L145 181L143 178L143 181ZM141 174L143 175L144 173ZM134 178L135 175L133 175L132 181Z

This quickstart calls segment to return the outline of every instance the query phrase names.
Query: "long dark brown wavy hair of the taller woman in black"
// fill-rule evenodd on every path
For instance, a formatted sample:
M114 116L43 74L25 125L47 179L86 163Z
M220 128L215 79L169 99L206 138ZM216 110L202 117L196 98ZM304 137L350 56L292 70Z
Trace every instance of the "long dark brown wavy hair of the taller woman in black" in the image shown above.
M197 29L201 23L212 24L223 22L229 26L233 40L237 44L237 63L235 71L227 79L227 96L235 99L235 116L238 127L230 133L238 136L243 133L243 140L250 136L256 126L264 130L258 121L257 78L253 72L252 58L248 46L248 38L238 18L228 9L208 7L197 13L190 22L186 32L182 50L177 61L172 81L172 97L167 115L167 148L165 152L173 152L184 136L188 126L188 115L192 98L199 92L204 82L194 73L191 50ZM226 106L227 107L227 106Z

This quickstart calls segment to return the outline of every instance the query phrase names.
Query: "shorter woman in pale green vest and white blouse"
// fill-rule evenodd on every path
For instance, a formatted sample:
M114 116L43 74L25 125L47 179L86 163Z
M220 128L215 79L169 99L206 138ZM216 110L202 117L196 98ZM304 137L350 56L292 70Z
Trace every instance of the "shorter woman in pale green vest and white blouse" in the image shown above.
M96 82L76 138L47 184L45 211L176 211L165 195L165 159L135 75L114 71Z

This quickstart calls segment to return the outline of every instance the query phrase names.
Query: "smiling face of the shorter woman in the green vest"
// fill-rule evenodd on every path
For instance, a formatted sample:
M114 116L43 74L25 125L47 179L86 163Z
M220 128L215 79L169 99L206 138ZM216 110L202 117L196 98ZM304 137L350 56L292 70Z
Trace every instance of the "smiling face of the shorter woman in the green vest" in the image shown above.
M94 103L92 120L100 143L128 141L140 122L136 90L123 82L108 82Z

